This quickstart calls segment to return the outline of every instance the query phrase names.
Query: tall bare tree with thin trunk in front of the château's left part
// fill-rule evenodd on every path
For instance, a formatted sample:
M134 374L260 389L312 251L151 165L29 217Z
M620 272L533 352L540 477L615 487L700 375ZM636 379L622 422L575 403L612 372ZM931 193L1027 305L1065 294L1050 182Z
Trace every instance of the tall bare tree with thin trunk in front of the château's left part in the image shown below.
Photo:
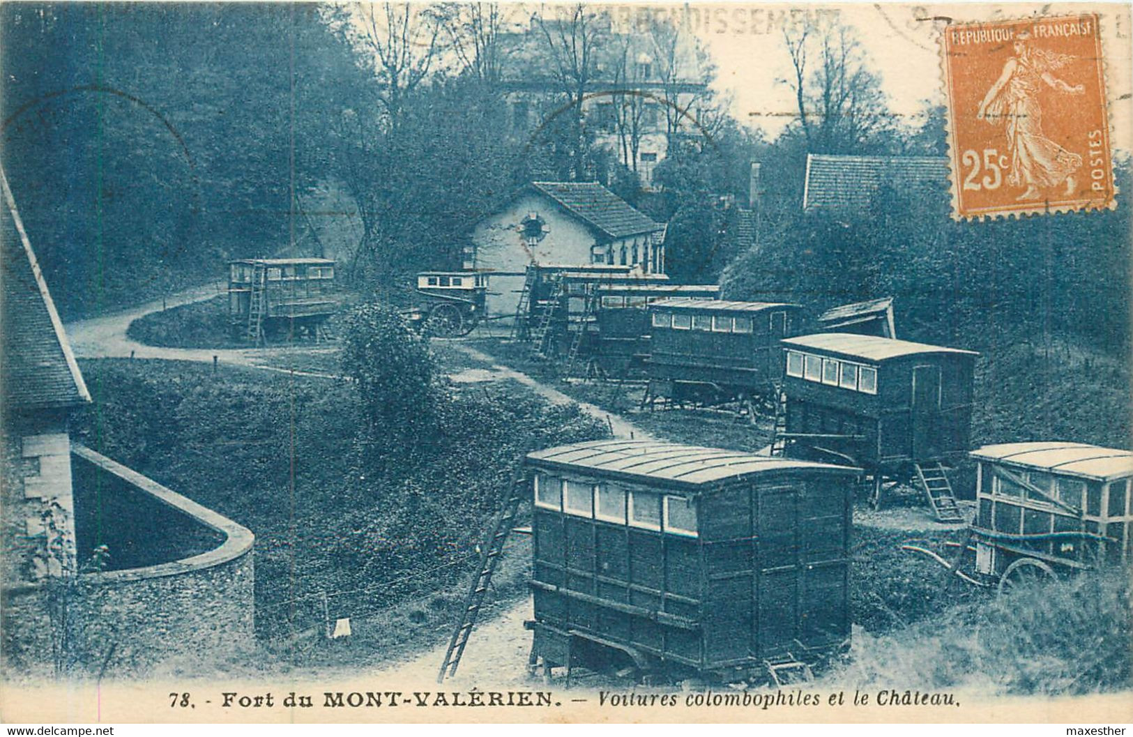
M552 74L571 110L570 129L574 178L586 175L586 126L582 103L597 75L598 49L606 36L606 18L579 2L540 6L536 15L552 62Z

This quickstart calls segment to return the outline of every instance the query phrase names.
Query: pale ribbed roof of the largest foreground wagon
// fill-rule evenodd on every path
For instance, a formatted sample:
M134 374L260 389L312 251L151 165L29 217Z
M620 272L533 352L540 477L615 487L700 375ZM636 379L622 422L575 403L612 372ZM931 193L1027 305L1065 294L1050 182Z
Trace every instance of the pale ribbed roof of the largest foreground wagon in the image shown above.
M527 455L536 465L553 465L612 474L644 482L700 486L759 473L790 469L854 473L850 466L755 456L721 448L651 440L599 440L559 446Z

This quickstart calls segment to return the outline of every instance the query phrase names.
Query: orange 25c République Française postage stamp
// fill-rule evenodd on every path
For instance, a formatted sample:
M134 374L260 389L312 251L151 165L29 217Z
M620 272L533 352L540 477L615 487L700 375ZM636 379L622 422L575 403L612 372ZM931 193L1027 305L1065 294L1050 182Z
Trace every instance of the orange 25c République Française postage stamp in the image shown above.
M949 25L954 218L1113 206L1098 16Z

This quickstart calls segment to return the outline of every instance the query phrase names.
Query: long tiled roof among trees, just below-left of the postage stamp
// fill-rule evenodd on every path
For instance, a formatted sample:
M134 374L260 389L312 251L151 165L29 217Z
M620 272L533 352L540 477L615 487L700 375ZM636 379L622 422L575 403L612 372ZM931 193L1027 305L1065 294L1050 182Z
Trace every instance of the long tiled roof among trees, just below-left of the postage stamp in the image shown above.
M861 210L881 183L901 192L945 192L944 156L847 156L807 154L803 210Z

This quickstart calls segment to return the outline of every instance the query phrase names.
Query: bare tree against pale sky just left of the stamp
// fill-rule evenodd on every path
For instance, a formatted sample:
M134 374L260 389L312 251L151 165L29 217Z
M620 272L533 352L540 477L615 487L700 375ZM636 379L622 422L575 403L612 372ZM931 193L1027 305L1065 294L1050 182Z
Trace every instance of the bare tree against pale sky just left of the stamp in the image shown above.
M808 17L784 27L783 40L808 149L841 153L876 143L891 125L886 98L853 32Z

